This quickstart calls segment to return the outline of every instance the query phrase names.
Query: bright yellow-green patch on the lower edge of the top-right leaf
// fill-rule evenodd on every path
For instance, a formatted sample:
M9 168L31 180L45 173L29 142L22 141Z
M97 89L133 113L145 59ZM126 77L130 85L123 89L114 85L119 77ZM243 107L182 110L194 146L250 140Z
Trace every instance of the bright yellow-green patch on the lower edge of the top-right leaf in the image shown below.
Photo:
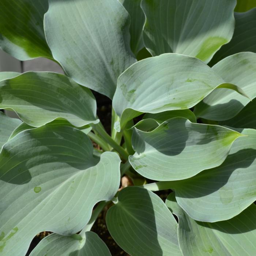
M223 37L209 37L207 38L200 50L199 53L197 53L196 58L200 60L207 60L209 57L211 57L212 54L214 54L223 44L227 43L227 39Z

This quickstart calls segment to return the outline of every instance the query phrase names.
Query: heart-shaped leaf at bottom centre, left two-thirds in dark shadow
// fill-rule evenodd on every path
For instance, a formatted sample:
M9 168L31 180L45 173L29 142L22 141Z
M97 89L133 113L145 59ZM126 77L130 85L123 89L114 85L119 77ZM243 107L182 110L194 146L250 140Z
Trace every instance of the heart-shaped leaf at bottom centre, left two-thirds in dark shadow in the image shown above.
M147 189L122 189L118 202L107 212L106 223L111 236L129 255L182 255L176 220L162 199Z

